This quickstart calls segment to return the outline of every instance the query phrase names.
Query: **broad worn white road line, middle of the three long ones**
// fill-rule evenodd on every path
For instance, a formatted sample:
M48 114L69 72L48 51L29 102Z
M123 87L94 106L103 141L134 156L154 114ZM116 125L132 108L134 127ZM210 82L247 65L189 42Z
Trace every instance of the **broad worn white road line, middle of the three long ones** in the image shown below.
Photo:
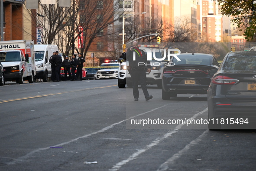
M208 108L204 109L203 111L195 114L194 116L192 116L189 119L194 119L196 118L198 115L201 115L202 113L206 112L208 110ZM163 140L165 140L166 138L170 137L173 133L178 132L178 130L181 128L181 126L186 125L186 123L183 124L179 124L178 126L175 127L174 130L166 133L164 136L156 138L156 140L154 140L153 142L151 142L149 145L147 145L145 148L143 149L139 149L137 152L133 153L133 155L130 155L129 158L127 158L126 160L120 161L119 163L117 163L116 165L114 165L111 169L109 169L109 171L118 171L123 165L125 165L126 163L128 163L129 161L132 161L134 159L136 159L139 155L141 155L143 152L146 152L148 149L154 147L155 145L158 145L160 142L162 142Z

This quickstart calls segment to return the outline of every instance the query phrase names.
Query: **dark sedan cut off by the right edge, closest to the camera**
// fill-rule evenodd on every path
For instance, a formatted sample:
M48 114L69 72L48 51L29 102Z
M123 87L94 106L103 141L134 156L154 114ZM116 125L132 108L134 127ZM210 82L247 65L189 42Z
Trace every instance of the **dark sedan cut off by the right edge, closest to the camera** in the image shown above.
M209 129L256 129L256 52L229 52L208 89Z

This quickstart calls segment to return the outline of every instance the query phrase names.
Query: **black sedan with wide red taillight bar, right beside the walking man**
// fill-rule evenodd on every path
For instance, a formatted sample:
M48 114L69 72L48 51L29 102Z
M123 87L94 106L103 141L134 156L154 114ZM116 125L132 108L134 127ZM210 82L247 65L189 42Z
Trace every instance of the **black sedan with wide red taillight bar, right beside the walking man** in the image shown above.
M172 57L165 66L162 77L162 99L169 100L177 94L207 94L211 82L210 70L219 68L210 54L185 53Z

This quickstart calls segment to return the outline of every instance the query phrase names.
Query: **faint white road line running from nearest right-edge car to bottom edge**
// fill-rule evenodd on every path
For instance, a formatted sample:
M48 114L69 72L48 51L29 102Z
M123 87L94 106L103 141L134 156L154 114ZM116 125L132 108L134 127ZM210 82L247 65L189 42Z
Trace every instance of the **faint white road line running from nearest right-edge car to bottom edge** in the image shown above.
M167 171L170 170L169 165L174 164L174 161L178 158L181 157L181 155L183 155L185 152L187 152L192 146L197 145L198 142L200 142L202 139L202 137L208 132L209 130L205 130L200 136L198 136L197 139L194 139L193 141L191 141L189 144L187 144L185 146L185 148L183 148L182 150L180 150L179 152L177 152L175 155L173 155L171 158L169 158L167 161L165 161L157 171ZM201 160L201 159L198 159Z

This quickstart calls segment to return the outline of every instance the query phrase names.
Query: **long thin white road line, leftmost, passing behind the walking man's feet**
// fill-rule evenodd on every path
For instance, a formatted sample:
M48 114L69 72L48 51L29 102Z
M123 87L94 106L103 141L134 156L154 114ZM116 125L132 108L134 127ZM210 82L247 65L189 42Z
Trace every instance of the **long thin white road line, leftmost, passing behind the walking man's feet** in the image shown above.
M147 111L147 112L145 112L145 113L140 113L140 114L138 114L138 115L136 115L136 116L132 116L132 117L130 117L130 118L128 118L128 119L125 119L125 120L122 120L122 121L120 121L120 122L113 123L112 125L107 126L107 127L103 128L103 129L97 131L97 132L93 132L93 133L91 133L91 134L87 134L87 135L85 135L85 136L81 136L81 137L78 137L78 138L76 138L76 139L72 139L72 140L70 140L70 141L68 141L68 142L63 142L63 143L61 143L61 144L53 145L53 146L59 147L59 146L62 146L62 145L69 144L69 143L71 143L71 142L76 142L76 141L78 141L78 139L87 138L87 137L92 136L92 135L94 135L94 134L107 131L108 129L113 128L113 126L118 125L118 124L120 124L120 123L123 123L123 122L125 122L125 121L127 121L127 120L129 120L129 119L135 118L135 117L137 117L137 116L144 115L144 114L149 113L149 112L152 112L152 111L154 111L154 110L158 110L158 109L160 109L160 108L162 108L162 107L165 107L165 106L168 106L168 105L169 105L169 104L165 104L164 106L157 107L157 108L152 109L152 110L149 110L149 111ZM50 147L38 148L38 149L36 149L36 150L33 150L32 152L29 152L28 154L26 154L26 155L24 155L24 156L21 156L21 157L17 158L15 161L11 161L11 162L8 162L8 163L6 163L6 164L7 164L7 165L11 165L11 164L15 164L16 161L24 161L25 159L29 158L29 157L30 157L31 155L33 155L34 153L40 152L40 151L42 151L42 150L46 150L46 149L49 149L49 148L50 148Z

